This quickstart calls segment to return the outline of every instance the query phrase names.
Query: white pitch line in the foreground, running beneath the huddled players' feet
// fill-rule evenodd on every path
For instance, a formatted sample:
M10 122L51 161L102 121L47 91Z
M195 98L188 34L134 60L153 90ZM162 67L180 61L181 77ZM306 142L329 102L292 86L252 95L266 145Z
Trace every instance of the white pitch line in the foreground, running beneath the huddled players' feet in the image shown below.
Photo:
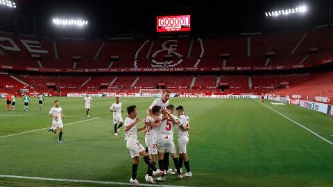
M89 183L89 184L109 184L109 185L122 185L122 186L133 186L130 183L115 182L115 181L93 181L93 180L78 180L78 179L55 179L55 178L44 178L44 177L26 177L17 175L0 175L3 178L15 178L15 179L33 179L40 181L67 181L76 183ZM163 187L189 187L189 186L173 186L173 185L157 185L157 184L141 184L140 186L163 186Z

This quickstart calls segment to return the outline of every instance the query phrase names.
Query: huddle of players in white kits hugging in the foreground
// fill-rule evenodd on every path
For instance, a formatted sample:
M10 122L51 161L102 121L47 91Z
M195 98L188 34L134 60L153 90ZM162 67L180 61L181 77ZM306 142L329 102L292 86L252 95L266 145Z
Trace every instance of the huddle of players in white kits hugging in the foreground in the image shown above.
M143 121L143 127L137 127L139 118L137 117L137 107L131 105L127 107L128 117L125 120L125 140L126 147L130 150L130 156L133 159L132 177L130 183L139 185L137 181L137 166L139 164L139 156L144 157L144 161L148 166L146 173L146 181L155 184L156 181L165 181L165 175L175 174L169 170L169 154L173 159L176 167L178 179L183 177L192 177L189 168L189 159L187 157L187 143L189 143L189 117L185 115L184 107L176 107L178 117L173 115L175 107L169 105L170 91L164 90L162 98L157 98L153 104L147 109L148 116ZM173 127L178 125L178 154L176 155L175 143L173 142ZM137 140L137 132L144 131L145 142L147 148ZM151 155L148 157L148 155ZM160 169L155 167L158 161ZM184 162L187 172L182 175L182 163ZM160 175L156 179L153 175Z

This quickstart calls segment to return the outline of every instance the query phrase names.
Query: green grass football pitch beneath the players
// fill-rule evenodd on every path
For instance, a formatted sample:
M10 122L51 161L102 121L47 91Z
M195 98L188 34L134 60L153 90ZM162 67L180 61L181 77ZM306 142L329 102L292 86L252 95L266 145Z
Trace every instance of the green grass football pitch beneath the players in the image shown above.
M56 99L67 116L65 124L87 119L82 98L46 98L42 111L33 99L28 112L23 112L20 98L12 112L6 111L6 100L1 99L0 136L50 127L47 114ZM137 105L143 119L153 100L121 98L123 118L128 105ZM90 116L101 118L65 126L62 144L56 142L58 134L47 130L0 138L0 175L128 182L132 163L123 128L114 136L108 111L112 103L113 98L94 98ZM188 155L194 176L182 181L167 176L166 182L158 184L333 186L333 145L257 101L171 98L170 103L183 105L190 118ZM333 141L332 117L296 106L264 104ZM144 144L143 132L139 141ZM170 166L174 168L172 161ZM146 164L140 159L137 176L142 182L145 172ZM0 178L0 186L53 185L103 186Z

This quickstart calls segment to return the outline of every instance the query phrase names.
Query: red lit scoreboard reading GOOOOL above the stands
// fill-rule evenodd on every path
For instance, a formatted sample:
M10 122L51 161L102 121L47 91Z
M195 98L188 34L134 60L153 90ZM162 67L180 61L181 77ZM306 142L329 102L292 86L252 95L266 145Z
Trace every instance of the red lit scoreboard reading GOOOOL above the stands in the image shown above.
M191 30L190 15L164 16L156 18L157 33Z

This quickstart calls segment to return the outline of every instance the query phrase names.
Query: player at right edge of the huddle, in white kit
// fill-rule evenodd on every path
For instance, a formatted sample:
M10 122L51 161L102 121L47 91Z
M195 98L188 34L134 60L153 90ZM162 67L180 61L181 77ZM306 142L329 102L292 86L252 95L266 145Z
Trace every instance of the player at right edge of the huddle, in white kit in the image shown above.
M176 108L180 123L178 125L178 154L179 166L182 168L182 161L184 161L187 172L182 177L192 177L191 170L189 169L189 159L187 157L187 143L189 143L189 116L185 115L184 107L178 106Z

